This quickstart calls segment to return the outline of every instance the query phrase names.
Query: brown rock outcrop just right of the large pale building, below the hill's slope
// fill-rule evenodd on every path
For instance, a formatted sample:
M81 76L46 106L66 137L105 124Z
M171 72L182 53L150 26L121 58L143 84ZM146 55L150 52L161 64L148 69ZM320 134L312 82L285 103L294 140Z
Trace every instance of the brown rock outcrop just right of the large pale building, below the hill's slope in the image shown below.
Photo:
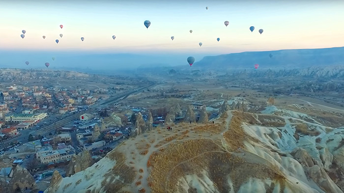
M86 150L78 155L73 155L68 165L68 169L66 170L66 176L74 175L93 164L94 161Z

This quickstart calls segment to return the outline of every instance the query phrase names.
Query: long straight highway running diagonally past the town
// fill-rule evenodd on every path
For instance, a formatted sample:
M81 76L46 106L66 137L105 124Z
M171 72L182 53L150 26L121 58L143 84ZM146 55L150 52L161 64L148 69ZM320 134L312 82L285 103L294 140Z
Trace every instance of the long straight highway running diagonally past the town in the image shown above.
M63 125L65 125L67 123L70 123L70 122L72 122L75 119L79 119L80 115L82 115L84 113L91 113L91 112L97 111L99 109L103 109L103 108L107 107L108 105L113 104L113 103L119 101L121 98L125 99L129 95L131 95L131 94L135 94L135 93L141 92L143 89L152 87L154 85L155 85L155 83L150 82L146 86L143 86L141 88L138 88L138 89L135 89L135 90L131 90L131 91L128 91L128 92L125 92L125 93L122 93L122 94L119 94L118 96L112 97L112 98L106 100L103 103L102 102L97 102L96 104L91 105L87 110L84 110L84 111L81 111L81 112L78 112L78 113L75 113L75 114L70 114L69 116L67 115L62 120L58 120L57 122L55 122L55 123L53 123L51 125L47 125L45 127L42 127L39 130L35 130L35 128L32 128L32 130L27 129L27 130L20 131L21 135L19 137L11 138L9 140L3 141L4 144L0 145L0 149L2 149L4 147L7 147L9 145L9 143L12 142L12 141L20 141L22 143L28 142L29 134L31 134L33 136L41 135L41 136L47 137L49 135L49 133L53 133L54 134L55 130L57 128L60 128Z

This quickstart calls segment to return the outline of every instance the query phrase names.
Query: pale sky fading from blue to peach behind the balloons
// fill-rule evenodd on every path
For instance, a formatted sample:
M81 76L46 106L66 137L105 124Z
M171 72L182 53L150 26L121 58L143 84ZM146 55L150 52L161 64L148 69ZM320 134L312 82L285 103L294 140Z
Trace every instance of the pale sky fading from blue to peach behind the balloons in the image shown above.
M1 49L228 54L339 47L344 42L343 1L1 2ZM151 21L148 29L143 25L144 20ZM60 24L63 29L59 28ZM250 26L256 28L253 33ZM259 28L264 29L261 35ZM20 37L22 29L27 31L24 39ZM116 36L115 40L112 35ZM81 37L85 37L84 42ZM220 42L216 41L217 37ZM56 39L60 40L58 45ZM199 42L203 43L201 48Z

